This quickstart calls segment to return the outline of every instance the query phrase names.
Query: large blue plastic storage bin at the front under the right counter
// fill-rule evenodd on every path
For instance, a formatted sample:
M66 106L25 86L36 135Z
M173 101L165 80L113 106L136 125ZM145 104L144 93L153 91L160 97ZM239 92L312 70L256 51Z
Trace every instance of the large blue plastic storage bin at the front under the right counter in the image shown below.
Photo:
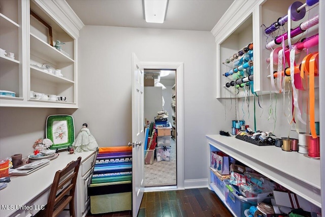
M258 197L247 197L247 198L243 196L238 196L236 194L236 190L231 192L229 188L227 188L226 185L230 184L229 179L225 179L223 180L223 182L225 187L225 201L238 217L245 216L244 214L245 209L249 209L249 207L251 206L256 206L257 203L259 202L265 202L270 204L271 198L273 198L269 196L258 196Z

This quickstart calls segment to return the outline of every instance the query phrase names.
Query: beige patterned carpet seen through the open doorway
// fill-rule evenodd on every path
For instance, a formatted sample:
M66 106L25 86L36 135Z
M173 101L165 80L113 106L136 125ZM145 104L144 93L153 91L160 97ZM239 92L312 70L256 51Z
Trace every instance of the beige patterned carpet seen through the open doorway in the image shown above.
M176 141L171 139L170 161L154 159L153 164L144 165L145 187L176 185Z

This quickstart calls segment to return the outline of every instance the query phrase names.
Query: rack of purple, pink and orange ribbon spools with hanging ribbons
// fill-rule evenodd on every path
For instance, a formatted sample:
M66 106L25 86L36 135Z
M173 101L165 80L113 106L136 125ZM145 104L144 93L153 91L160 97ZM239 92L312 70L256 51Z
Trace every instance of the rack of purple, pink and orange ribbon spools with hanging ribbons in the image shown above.
M268 36L265 47L270 50L266 64L269 64L267 77L271 81L271 88L279 94L284 94L284 82L289 82L293 98L291 121L299 121L299 125L306 126L306 131L310 129L312 138L317 137L314 109L317 85L315 77L319 75L319 14L315 10L311 12L311 9L317 5L318 0L294 2L288 7L287 14L264 29L264 34ZM296 27L291 28L291 22ZM286 26L288 30L285 32L280 26ZM274 37L275 31L277 37ZM299 98L304 96L303 91L308 92L308 97L299 101Z

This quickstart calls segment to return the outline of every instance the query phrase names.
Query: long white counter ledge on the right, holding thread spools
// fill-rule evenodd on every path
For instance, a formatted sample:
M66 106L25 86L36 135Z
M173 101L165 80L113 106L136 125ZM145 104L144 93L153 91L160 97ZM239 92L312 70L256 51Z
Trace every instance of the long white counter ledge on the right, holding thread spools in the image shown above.
M234 136L206 135L209 145L321 207L320 161L276 146L257 146Z

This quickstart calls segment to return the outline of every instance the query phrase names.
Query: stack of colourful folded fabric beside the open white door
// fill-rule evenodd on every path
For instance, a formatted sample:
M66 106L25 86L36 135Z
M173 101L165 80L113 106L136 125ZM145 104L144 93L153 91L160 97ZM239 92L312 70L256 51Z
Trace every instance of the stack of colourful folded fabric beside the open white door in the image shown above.
M100 147L88 187L90 213L132 209L132 147Z

